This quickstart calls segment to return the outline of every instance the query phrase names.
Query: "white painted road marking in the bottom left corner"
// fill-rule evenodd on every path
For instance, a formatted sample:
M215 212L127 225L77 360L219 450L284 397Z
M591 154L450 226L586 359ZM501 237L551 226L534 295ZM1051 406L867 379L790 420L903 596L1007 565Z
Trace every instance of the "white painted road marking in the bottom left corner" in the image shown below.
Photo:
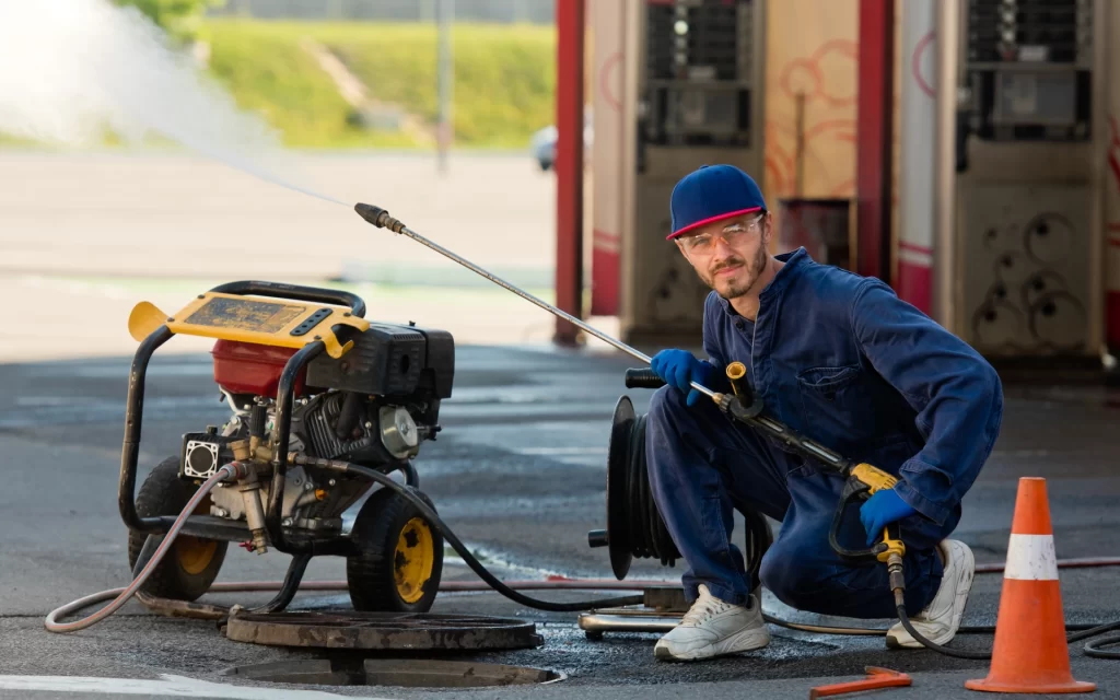
M0 689L25 692L39 690L149 697L221 698L223 700L337 700L338 698L346 697L318 690L283 690L279 688L227 685L181 675L162 674L160 679L152 681L147 679L82 675L0 675Z

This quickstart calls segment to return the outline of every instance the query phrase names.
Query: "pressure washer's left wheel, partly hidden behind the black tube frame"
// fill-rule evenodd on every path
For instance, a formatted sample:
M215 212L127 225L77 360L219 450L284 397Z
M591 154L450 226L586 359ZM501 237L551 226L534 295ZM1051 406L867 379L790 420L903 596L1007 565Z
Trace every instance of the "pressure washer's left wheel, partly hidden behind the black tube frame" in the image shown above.
M179 478L179 458L168 457L148 475L137 494L137 513L141 517L178 515L198 487ZM209 498L204 498L196 513L209 513ZM137 563L148 539L144 533L129 531L129 570ZM151 572L140 590L172 600L197 600L209 590L225 561L228 542L204 540L180 534L171 550Z

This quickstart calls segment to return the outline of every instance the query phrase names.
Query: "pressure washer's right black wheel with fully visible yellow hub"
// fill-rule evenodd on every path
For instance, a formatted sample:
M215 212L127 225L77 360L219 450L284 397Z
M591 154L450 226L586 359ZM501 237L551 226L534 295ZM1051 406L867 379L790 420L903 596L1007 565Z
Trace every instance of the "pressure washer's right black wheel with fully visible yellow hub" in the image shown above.
M413 489L435 510L431 498ZM366 500L351 536L358 554L346 558L355 610L427 613L444 570L444 538L403 496L382 488Z

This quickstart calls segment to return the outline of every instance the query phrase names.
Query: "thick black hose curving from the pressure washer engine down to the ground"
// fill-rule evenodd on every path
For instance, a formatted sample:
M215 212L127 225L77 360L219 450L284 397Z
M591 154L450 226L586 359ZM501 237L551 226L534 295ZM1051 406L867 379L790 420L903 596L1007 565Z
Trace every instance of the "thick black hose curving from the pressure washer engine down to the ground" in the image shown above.
M447 540L448 543L450 543L450 545L455 549L455 551L459 553L459 557L463 557L463 561L465 561L466 564L470 567L472 571L478 575L478 578L486 581L491 586L491 588L502 594L510 600L513 600L514 603L519 603L526 607L536 608L539 610L549 610L552 613L577 613L581 610L603 608L603 607L641 605L642 603L645 601L645 596L620 596L615 598L601 598L599 600L581 600L578 603L552 603L550 600L540 600L538 598L531 598L526 595L520 594L516 590L510 588L508 586L503 584L497 577L491 573L486 569L486 567L482 564L482 562L475 559L474 554L470 553L470 550L467 549L467 547L461 541L459 541L459 538L455 535L451 529L448 528L442 520L440 520L439 515L436 514L436 511L429 507L428 504L424 503L423 498L420 498L413 492L414 489L412 489L410 486L402 486L375 469L370 469L347 461L296 457L293 463L306 464L327 469L337 469L339 472L351 472L354 474L361 474L362 476L365 476L370 479L373 479L374 482L377 482L385 488L391 489L399 496L407 498L409 503L411 503L418 511L420 511L420 515L426 521L428 521L428 524L435 528L436 531L439 532L444 536L444 539Z

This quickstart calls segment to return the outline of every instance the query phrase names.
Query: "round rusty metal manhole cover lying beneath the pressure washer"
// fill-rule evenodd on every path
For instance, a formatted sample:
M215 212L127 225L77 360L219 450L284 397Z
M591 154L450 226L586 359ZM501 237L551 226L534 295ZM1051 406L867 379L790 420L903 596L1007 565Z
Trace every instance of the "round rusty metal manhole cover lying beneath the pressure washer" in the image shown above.
M510 650L543 644L531 622L476 615L235 613L225 636L270 646L363 650Z

